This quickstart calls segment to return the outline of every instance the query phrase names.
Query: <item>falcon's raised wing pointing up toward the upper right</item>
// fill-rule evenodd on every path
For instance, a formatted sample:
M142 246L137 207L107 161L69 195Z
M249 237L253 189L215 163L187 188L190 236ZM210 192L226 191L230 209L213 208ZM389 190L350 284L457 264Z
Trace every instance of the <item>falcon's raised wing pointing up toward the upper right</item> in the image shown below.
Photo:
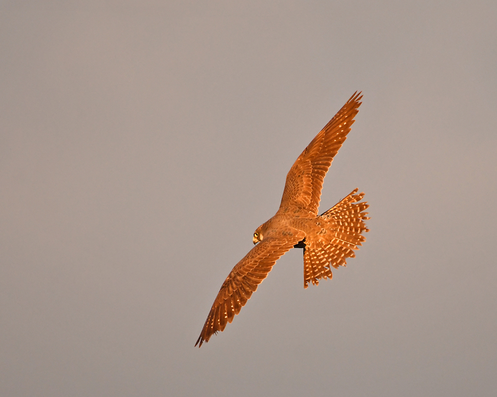
M297 158L286 176L280 210L297 206L318 214L323 180L354 123L361 98L361 93L355 92Z

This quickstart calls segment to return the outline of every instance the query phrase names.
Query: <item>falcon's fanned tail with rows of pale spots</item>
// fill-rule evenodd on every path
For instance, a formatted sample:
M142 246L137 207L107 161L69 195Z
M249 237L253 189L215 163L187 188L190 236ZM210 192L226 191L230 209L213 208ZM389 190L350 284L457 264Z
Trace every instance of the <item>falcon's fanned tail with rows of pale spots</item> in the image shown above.
M331 279L331 266L345 266L346 259L354 258L354 250L358 250L358 246L366 241L362 233L369 231L364 223L369 219L366 216L368 213L364 212L369 204L366 201L358 202L364 193L356 193L357 189L354 189L320 216L330 225L325 235L328 243L322 247L304 248L304 288L309 282L318 285L321 278Z

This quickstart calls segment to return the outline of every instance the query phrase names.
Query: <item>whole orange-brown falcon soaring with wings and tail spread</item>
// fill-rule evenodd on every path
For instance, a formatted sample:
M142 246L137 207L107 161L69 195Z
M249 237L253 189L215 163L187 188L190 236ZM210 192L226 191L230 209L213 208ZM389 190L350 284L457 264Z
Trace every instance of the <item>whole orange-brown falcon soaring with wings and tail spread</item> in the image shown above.
M304 288L309 282L318 285L322 278L331 279L331 266L337 269L345 266L347 258L355 257L354 250L366 240L362 233L369 231L364 223L369 219L364 212L369 205L360 202L364 193L357 194L354 189L321 215L318 207L323 180L350 132L361 98L361 93L355 92L297 158L286 176L278 211L255 230L255 247L226 277L195 346L224 331L276 261L291 248L304 249Z

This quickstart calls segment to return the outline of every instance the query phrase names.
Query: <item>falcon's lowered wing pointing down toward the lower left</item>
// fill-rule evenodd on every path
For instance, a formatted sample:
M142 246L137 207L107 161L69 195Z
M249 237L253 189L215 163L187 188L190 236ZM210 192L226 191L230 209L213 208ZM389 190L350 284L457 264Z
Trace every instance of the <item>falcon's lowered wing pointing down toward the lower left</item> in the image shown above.
M293 248L301 238L276 239L265 238L258 243L242 259L230 275L226 277L218 296L214 300L204 328L197 339L197 343L207 342L213 333L223 331L227 323L231 323L236 314L240 313L252 292L257 289L267 277L274 263L290 248Z

